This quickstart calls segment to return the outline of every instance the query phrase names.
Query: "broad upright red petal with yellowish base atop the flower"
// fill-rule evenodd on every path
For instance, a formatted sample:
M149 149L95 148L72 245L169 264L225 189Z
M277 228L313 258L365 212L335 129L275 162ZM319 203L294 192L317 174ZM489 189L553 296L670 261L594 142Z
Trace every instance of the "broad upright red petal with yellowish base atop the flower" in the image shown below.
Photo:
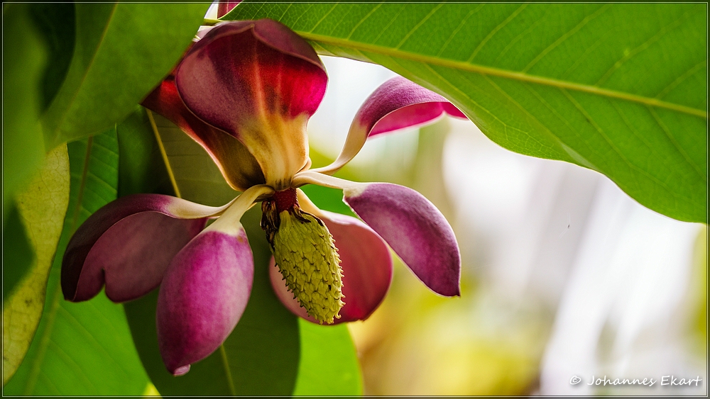
M306 123L327 74L312 47L281 23L215 26L187 52L175 83L190 111L246 146L274 189L288 188L307 164Z

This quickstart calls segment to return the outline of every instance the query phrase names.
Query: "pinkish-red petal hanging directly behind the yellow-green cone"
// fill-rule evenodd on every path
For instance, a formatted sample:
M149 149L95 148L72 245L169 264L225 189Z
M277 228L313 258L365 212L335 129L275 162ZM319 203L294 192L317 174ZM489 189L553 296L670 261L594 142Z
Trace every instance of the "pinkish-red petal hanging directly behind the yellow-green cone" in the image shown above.
M321 218L335 240L343 268L345 305L335 324L365 320L382 303L392 282L392 257L380 236L356 218L320 211ZM317 322L300 307L293 293L288 291L278 267L271 259L271 286L286 308L297 316Z

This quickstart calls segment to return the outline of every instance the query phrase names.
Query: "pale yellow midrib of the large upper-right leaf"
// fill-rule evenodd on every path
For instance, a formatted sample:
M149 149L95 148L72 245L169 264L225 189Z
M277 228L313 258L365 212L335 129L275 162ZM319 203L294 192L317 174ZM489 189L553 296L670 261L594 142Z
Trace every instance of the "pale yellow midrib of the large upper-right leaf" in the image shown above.
M530 82L534 84L541 84L544 86L557 87L558 89L568 89L573 91L581 91L584 93L595 94L598 96L606 96L613 99L622 99L626 101L631 101L635 103L641 103L646 106L655 106L657 108L666 108L672 111L677 111L681 113L687 113L692 116L699 116L700 118L707 119L707 112L698 108L693 108L689 106L682 106L677 103L670 103L667 101L662 101L655 98L650 98L646 96L639 96L638 94L626 93L624 91L616 91L611 89L603 89L599 86L593 86L590 84L580 84L575 82L569 82L560 79L553 79L549 77L540 77L536 75L526 74L523 72L510 71L508 69L501 69L496 67L486 67L481 64L473 64L463 61L447 60L445 58L433 57L430 55L417 54L415 52L408 52L403 50L394 49L392 47L384 47L381 45L371 45L367 43L360 43L353 40L334 38L327 35L319 35L317 33L306 32L303 30L295 30L295 32L306 40L316 42L325 45L335 45L339 47L351 48L354 50L374 52L381 55L386 55L388 57L400 58L403 60L411 60L416 62L423 62L425 64L438 65L441 67L449 67L453 69L459 69L466 72L474 72L478 74L484 74L488 76L503 77L506 79L517 80L519 82Z

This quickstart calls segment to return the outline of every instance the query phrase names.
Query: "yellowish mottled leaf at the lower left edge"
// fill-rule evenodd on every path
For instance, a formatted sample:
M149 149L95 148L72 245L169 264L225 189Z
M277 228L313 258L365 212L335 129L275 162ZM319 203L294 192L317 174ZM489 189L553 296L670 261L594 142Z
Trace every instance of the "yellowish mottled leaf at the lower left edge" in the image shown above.
M20 366L40 322L48 274L69 203L69 184L69 157L67 147L62 145L47 154L40 172L16 196L18 216L35 259L9 298L3 300L3 385ZM4 247L4 252L16 250ZM3 274L14 266L4 263Z

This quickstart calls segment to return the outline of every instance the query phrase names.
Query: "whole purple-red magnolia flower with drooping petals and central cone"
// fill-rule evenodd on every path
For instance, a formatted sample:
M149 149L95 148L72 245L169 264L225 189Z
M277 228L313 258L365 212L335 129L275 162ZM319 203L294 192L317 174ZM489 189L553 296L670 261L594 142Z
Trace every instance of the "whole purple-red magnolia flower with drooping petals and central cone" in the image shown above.
M107 204L67 247L65 298L87 300L105 285L109 299L123 302L160 286L160 353L171 373L186 373L246 308L254 271L240 219L259 201L271 282L297 315L327 324L366 319L390 286L389 247L432 291L458 296L459 248L430 201L403 186L332 174L367 137L464 115L432 91L391 79L360 108L335 162L310 169L306 124L326 84L312 47L280 23L222 23L205 33L143 105L200 143L241 195L219 208L158 194ZM318 209L298 189L305 184L342 189L364 223ZM209 218L216 220L205 227Z

